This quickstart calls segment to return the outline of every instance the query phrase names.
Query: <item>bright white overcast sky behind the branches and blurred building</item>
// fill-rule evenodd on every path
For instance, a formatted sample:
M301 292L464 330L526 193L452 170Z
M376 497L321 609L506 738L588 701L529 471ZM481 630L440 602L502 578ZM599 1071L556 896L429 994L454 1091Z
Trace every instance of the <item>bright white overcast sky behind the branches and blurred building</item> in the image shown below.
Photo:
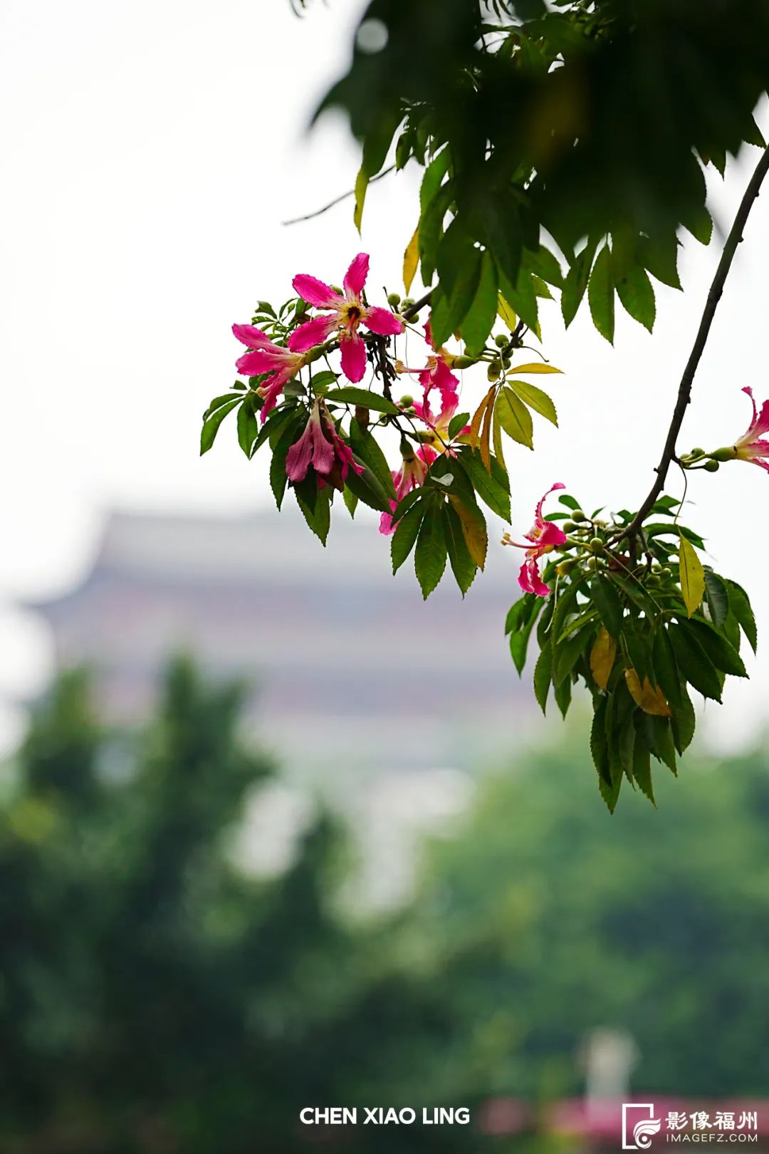
M291 295L295 272L339 282L360 248L371 254L371 288L402 288L414 178L371 188L362 243L349 202L280 225L352 187L359 157L346 126L326 118L304 129L346 61L361 7L316 0L302 21L288 0L0 7L0 742L16 732L13 699L48 660L39 625L15 602L76 582L106 511L271 501L265 463L246 460L234 428L197 455L201 413L235 375L232 322L249 320L259 298ZM748 149L725 188L716 178L725 227L756 157ZM695 382L684 449L744 432L744 384L769 395L768 225L764 196ZM536 454L510 447L517 531L555 480L586 507L641 500L717 257L715 245L687 242L686 293L658 288L651 337L619 316L613 350L587 315L564 334L557 306L543 308L543 350L566 373L551 390L560 428L537 420ZM482 372L467 374L463 407L483 390ZM680 492L677 474L670 492ZM715 567L748 587L766 636L769 477L733 464L691 475L689 496L689 523L708 537ZM739 743L766 715L769 657L748 666L749 684L730 679L722 741Z

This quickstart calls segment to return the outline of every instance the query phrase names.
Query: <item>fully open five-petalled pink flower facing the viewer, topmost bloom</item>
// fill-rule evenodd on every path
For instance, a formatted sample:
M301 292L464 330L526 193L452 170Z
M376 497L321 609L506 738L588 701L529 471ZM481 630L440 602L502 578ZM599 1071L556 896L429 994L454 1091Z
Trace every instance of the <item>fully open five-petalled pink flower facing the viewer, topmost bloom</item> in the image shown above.
M365 373L365 345L359 334L359 327L364 324L371 332L382 336L393 336L404 331L404 324L386 308L369 308L363 304L362 293L365 278L369 275L369 257L359 253L347 269L344 292L338 293L330 285L301 273L294 277L296 293L308 305L327 312L329 316L316 316L292 332L288 339L289 349L303 352L314 345L322 344L331 334L339 332L341 351L341 368L348 381L356 383L363 380Z

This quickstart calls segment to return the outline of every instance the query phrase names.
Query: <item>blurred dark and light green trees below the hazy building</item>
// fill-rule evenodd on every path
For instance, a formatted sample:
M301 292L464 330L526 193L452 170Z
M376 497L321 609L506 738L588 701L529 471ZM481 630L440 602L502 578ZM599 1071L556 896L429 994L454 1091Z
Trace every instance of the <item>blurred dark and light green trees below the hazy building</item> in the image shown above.
M40 707L0 805L0 1148L291 1152L308 1104L537 1103L581 1093L596 1026L635 1037L636 1089L764 1092L764 754L692 758L650 820L640 797L596 805L573 744L519 750L429 848L413 905L348 924L327 817L280 878L232 863L270 773L238 702L179 664L142 735L100 727L81 675Z

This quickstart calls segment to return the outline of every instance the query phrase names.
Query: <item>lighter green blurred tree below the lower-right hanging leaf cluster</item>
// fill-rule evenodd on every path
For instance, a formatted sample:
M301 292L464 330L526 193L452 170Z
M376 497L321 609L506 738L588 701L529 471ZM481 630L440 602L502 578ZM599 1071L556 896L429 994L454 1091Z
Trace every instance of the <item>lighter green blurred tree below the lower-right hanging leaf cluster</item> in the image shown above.
M766 1094L766 752L692 758L650 829L639 805L606 820L575 748L495 775L431 855L410 943L457 1014L432 1093L581 1093L582 1044L610 1027L636 1042L638 1092Z

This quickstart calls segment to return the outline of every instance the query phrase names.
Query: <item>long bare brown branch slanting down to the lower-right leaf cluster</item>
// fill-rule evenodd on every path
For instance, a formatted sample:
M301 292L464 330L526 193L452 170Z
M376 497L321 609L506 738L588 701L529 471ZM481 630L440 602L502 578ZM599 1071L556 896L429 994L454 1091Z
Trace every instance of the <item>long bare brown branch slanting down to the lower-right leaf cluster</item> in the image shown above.
M724 291L724 284L726 277L729 276L729 270L732 267L732 261L734 260L734 254L737 247L742 240L742 233L745 231L745 225L747 224L747 218L751 213L751 209L761 190L761 185L763 178L769 172L769 148L766 149L763 156L756 165L756 170L753 173L751 181L745 189L745 195L740 202L740 207L737 210L737 216L734 217L734 223L731 227L731 232L726 238L726 243L724 245L724 250L721 254L721 260L718 261L718 268L716 269L716 275L713 278L713 284L710 285L710 291L704 304L704 310L702 313L702 319L700 321L700 327L698 329L696 337L694 339L694 346L689 354L689 359L686 362L686 368L684 369L684 375L681 376L681 383L678 387L678 398L676 400L676 407L673 410L672 420L670 422L670 428L668 429L668 439L665 441L665 447L662 452L662 458L657 465L655 472L657 479L655 480L651 489L649 490L643 504L636 512L629 525L623 530L619 534L619 539L626 537L634 537L639 529L643 524L643 520L651 509L659 494L662 493L665 478L668 477L668 470L672 460L676 460L676 441L678 440L678 434L680 433L681 424L684 421L684 414L692 399L692 383L694 381L694 374L698 370L704 346L710 335L710 327L713 324L713 319L718 307L718 301L722 298Z

